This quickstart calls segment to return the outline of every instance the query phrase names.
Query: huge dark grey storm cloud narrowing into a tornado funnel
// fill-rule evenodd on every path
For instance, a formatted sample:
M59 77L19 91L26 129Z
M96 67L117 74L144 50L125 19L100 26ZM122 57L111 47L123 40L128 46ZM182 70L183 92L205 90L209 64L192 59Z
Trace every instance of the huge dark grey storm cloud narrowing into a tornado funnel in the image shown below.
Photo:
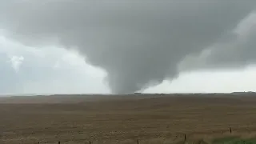
M27 45L78 50L87 62L106 70L114 93L175 78L184 58L205 60L199 62L202 67L244 65L256 52L252 40L243 50L227 51L223 44L209 58L194 57L218 42L234 45L232 30L255 9L252 0L13 0L2 6L0 26L6 36ZM231 57L238 52L242 58Z

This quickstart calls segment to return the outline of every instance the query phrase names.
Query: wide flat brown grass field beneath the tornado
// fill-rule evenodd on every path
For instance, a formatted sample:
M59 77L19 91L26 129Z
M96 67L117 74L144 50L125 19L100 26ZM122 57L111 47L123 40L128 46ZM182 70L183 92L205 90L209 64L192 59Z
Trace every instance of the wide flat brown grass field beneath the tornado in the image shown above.
M131 94L0 98L0 144L136 144L137 139L140 143L179 143L184 134L191 142L201 138L207 142L230 135L229 127L233 135L254 137L256 97Z

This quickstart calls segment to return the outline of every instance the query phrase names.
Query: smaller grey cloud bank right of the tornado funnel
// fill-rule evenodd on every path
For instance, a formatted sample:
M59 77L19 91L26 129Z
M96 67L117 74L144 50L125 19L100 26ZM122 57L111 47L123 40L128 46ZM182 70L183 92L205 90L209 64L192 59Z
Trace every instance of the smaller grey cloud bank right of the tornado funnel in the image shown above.
M191 54L181 62L181 70L238 69L256 62L256 13L250 14L252 22L234 30L229 39L216 42L201 54ZM249 25L248 25L249 24ZM237 28L238 29L238 28ZM236 34L239 31L238 34Z

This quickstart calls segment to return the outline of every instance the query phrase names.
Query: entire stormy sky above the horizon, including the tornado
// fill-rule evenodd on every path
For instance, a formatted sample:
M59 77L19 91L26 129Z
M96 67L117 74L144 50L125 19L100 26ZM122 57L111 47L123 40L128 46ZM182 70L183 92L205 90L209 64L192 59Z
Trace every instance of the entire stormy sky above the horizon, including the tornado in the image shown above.
M0 94L256 91L251 0L0 0Z

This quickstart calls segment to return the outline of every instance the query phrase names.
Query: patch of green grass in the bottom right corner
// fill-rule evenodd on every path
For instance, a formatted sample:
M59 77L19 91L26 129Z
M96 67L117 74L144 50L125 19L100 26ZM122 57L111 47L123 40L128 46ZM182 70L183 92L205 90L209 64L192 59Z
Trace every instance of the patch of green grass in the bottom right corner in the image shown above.
M242 139L238 137L217 138L212 142L213 144L256 144L256 138Z

